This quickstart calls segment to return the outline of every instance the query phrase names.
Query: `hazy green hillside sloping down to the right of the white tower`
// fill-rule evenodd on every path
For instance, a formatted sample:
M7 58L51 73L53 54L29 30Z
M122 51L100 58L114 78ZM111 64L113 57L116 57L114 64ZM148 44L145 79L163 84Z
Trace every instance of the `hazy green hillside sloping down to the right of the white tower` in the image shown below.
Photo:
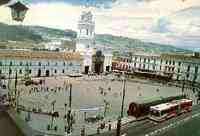
M139 49L145 52L189 52L189 50L171 45L143 42L138 39L109 34L96 35L96 43L111 46L113 48Z

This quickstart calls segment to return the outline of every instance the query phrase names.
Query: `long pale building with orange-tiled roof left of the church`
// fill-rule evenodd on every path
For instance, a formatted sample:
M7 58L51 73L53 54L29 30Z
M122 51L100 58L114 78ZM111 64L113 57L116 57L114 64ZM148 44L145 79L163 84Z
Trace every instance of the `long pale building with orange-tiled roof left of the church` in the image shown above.
M75 52L0 50L0 75L15 78L64 76L81 73L82 59Z

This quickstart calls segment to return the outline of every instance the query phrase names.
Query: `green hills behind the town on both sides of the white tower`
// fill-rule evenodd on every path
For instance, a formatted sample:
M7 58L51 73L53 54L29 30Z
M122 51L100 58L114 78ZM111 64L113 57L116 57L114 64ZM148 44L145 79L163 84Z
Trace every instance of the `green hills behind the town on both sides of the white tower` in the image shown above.
M47 43L62 42L64 40L75 39L77 36L73 30L59 30L41 26L15 26L0 23L0 43L9 42L9 46L16 48L44 47ZM20 43L20 44L18 44ZM171 45L143 42L138 39L114 36L109 34L97 34L97 45L106 45L112 49L130 50L139 49L145 52L188 52L188 50L177 48ZM2 45L2 44L0 44ZM19 46L19 47L17 47ZM59 46L56 44L55 46Z

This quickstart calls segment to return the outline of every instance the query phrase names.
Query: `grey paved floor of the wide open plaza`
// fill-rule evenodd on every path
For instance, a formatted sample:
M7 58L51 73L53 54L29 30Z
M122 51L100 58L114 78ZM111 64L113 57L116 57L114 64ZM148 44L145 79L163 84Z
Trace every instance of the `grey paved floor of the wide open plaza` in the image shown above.
M99 108L99 110L92 110L87 112L87 116L104 115L104 100L109 102L110 108L106 112L106 121L116 121L120 115L122 102L122 88L123 82L113 80L110 77L57 77L57 78L42 78L45 84L38 87L38 91L33 91L35 86L25 87L18 86L20 90L19 104L26 108L40 108L43 111L51 111L51 103L56 100L55 110L59 112L60 117L55 119L54 124L58 125L58 132L64 133L63 119L65 114L64 104L69 101L69 83L72 83L72 113L75 117L74 135L79 135L83 125L86 128L86 133L96 133L100 122L91 124L84 121L84 110L90 108ZM39 80L39 79L34 79ZM49 91L45 91L48 87ZM43 90L43 91L42 91ZM190 90L185 90L192 99L195 100L195 94ZM168 86L165 84L158 84L152 81L141 79L134 79L134 81L126 82L126 95L124 115L127 116L126 111L128 105L132 101L141 99L152 99L155 97L166 97L182 94L181 88ZM24 118L27 113L23 112L21 116ZM35 130L46 131L47 124L50 124L51 118L47 115L31 114L30 126Z

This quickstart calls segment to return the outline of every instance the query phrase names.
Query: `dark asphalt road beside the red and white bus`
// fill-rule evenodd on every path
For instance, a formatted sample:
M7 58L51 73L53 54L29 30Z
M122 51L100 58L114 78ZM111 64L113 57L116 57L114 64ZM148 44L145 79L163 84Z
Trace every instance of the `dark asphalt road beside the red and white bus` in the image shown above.
M163 123L143 120L122 128L121 135L126 136L198 136L200 105L193 107L192 112L182 114ZM93 136L116 136L116 131Z

